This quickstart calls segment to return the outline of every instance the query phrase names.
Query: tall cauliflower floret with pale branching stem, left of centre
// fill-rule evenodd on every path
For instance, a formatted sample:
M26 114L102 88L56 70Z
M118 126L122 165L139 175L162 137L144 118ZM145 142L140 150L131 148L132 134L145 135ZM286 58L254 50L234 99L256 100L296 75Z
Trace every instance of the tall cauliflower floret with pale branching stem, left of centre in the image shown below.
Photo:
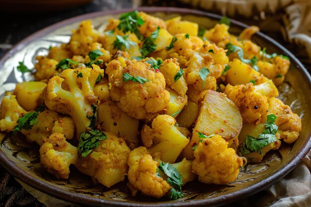
M45 92L45 104L49 109L73 118L77 137L89 126L87 116L93 115L91 104L98 100L93 88L98 76L103 76L103 70L94 64L92 67L64 70L61 76L54 76L48 81ZM82 77L78 77L79 73Z

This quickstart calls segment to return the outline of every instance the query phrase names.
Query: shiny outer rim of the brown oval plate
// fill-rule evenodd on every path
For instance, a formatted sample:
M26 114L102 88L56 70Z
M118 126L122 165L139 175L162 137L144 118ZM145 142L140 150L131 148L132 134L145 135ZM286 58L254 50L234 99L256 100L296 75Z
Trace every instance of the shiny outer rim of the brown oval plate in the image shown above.
M205 16L209 17L212 19L220 19L220 15L212 14L209 12L203 12L203 11L198 11L198 10L193 10L193 9L186 9L186 8L173 8L173 7L141 7L137 8L138 10L145 11L145 12L175 12L175 13L181 13L181 14L192 14L192 15L198 15L198 16ZM85 14L81 16L77 16L74 18L70 18L68 20L59 22L57 24L54 24L52 26L49 26L45 29L42 29L33 35L25 38L18 44L16 44L9 52L7 52L3 58L0 60L0 69L1 69L1 76L0 76L0 95L3 94L4 90L12 90L15 87L14 82L22 82L24 80L31 80L31 76L27 76L24 74L21 74L18 72L15 68L16 66L10 65L10 66L5 66L5 63L8 59L13 57L13 55L18 52L23 50L29 43L32 41L35 41L38 38L41 38L43 36L47 36L51 31L58 29L60 27L76 23L80 20L83 19L89 19L89 18L96 18L98 16L104 16L104 15L114 15L114 14L120 14L128 11L132 11L134 9L123 9L123 10L118 10L118 11L103 11L103 12L95 12L95 13L90 13L90 14ZM241 27L241 28L246 28L247 25L240 23L238 21L235 21L231 19L231 22L233 25ZM302 74L304 74L304 78L306 78L306 81L308 81L311 85L311 76L308 73L308 71L304 68L304 66L299 62L299 60L291 54L287 49L285 49L282 45L278 44L276 41L271 39L270 37L262 34L261 32L258 32L255 34L259 38L265 39L269 41L271 44L276 46L280 51L283 52L284 55L287 55L290 57L292 64L295 64L295 67L300 70ZM66 36L66 35L64 35ZM63 41L61 41L63 42ZM66 42L66 41L65 41ZM36 53L39 53L41 50L45 50L44 48L38 48L36 50ZM25 55L27 55L25 53ZM19 57L20 61L23 57ZM31 64L34 64L34 60ZM176 203L151 203L151 204L144 204L144 203L120 203L118 201L111 201L111 200L99 200L96 198L88 197L85 195L81 194L73 194L67 191L64 191L62 189L49 186L46 183L40 182L33 178L30 173L24 172L21 168L15 165L15 163L10 160L5 153L3 153L0 150L0 161L1 164L10 172L12 173L15 177L18 179L22 180L26 184L42 191L45 192L51 196L73 202L73 203L78 203L78 204L92 204L92 206L127 206L127 207L158 207L159 205L162 207L188 207L188 206L207 206L207 205L223 205L229 202L233 202L234 200L237 200L240 197L245 197L252 195L260 190L262 190L265 187L268 187L273 184L273 182L277 181L278 179L284 177L287 173L289 173L301 160L303 157L306 156L306 154L309 152L311 148L311 133L308 135L308 141L305 144L305 147L302 149L302 151L295 157L293 158L288 165L286 165L282 170L279 172L276 172L275 174L271 175L267 179L258 182L252 186L249 186L247 188L244 188L238 192L231 193L226 196L220 196L216 198L208 198L208 199L202 199L202 200L186 200L183 202L176 202ZM47 189L49 189L47 191Z

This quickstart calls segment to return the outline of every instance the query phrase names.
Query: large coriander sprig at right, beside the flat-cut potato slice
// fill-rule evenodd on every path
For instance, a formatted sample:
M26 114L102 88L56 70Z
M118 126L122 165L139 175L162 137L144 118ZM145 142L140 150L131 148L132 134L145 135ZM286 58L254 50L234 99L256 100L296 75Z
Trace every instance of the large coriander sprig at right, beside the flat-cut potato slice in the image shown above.
M245 142L240 146L240 152L242 154L248 154L250 152L259 152L262 154L261 149L268 144L277 141L275 137L278 131L278 126L275 124L276 116L274 114L269 114L267 116L265 130L258 136L254 138L252 136L246 135Z

